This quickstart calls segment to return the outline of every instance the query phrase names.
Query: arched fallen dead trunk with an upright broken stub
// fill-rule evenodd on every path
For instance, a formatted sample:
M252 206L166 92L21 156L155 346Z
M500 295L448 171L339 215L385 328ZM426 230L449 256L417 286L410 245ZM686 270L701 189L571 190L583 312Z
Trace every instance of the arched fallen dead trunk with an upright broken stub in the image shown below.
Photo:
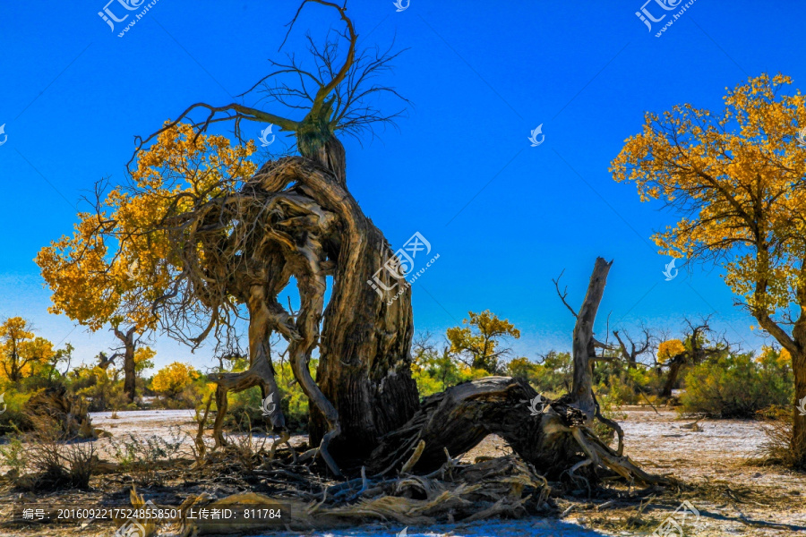
M487 435L497 434L547 477L558 478L563 473L578 477L576 472L590 465L604 466L630 482L666 482L663 477L645 473L624 455L622 430L602 416L593 393L593 327L611 264L596 260L582 307L579 313L574 311L577 322L570 393L550 401L522 379L488 377L465 382L426 397L409 422L382 439L367 469L383 474L405 464L407 471L433 471L446 457L466 453ZM591 429L595 420L618 432L617 449L598 439Z

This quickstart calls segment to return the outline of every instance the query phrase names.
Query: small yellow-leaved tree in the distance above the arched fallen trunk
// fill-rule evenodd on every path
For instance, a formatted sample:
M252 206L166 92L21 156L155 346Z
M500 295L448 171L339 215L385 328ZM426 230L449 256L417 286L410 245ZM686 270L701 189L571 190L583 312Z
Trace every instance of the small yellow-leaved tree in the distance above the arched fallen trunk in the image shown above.
M492 374L500 372L502 358L510 354L510 348L502 344L509 337L518 339L520 330L489 310L468 311L467 315L468 319L462 320L465 326L448 328L450 353L473 369Z

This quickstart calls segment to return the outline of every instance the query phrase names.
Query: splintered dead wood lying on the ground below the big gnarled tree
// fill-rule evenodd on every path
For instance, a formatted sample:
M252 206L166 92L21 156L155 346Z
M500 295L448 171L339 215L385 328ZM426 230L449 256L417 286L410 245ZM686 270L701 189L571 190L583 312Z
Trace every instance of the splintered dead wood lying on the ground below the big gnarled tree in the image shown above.
M360 479L330 487L322 500L293 497L269 498L255 493L213 499L196 496L185 500L180 535L244 533L266 529L306 531L355 526L367 522L400 526L472 522L490 516L520 517L546 507L550 488L545 479L515 456L476 465L450 461L426 476L407 475L396 480ZM192 520L191 508L245 507L275 509L278 520Z

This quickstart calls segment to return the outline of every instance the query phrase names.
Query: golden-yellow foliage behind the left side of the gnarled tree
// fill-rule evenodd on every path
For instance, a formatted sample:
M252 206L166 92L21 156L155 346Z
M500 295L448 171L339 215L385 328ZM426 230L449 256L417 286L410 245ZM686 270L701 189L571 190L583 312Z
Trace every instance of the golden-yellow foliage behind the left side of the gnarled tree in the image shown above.
M231 147L224 136L196 138L186 124L160 133L138 159L133 188L114 188L97 214L79 213L72 235L39 251L36 262L53 292L49 311L93 331L107 323L138 333L155 328L151 306L182 271L165 219L192 207L192 199L219 195L220 182L253 175L253 151L253 142Z

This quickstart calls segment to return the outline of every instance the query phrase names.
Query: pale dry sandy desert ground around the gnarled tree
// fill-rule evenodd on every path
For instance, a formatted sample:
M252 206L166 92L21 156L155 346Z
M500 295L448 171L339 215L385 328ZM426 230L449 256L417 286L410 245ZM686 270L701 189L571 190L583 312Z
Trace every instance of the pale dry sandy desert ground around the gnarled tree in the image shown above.
M553 495L553 512L548 516L522 520L487 520L474 524L443 524L433 527L408 527L409 537L506 537L515 535L583 537L593 535L647 535L664 522L667 516L683 501L699 511L699 520L688 516L683 524L685 535L725 536L794 536L806 532L806 474L793 473L776 466L763 468L753 462L765 440L759 422L739 420L711 420L699 422L701 431L684 427L691 420L679 419L677 413L660 409L657 413L648 407L627 407L619 411L619 422L625 433L626 452L647 470L672 473L683 486L677 491L653 495L639 494L638 490L620 490L604 495L587 490L572 490L570 495ZM101 460L114 461L114 441L128 433L138 438L160 436L164 439L182 439L180 452L190 453L196 423L193 411L162 410L93 414L93 423L112 433L112 439L95 440ZM186 433L186 434L184 434ZM243 438L241 438L243 440ZM292 443L303 444L304 436L293 437ZM270 437L253 435L253 441L270 442ZM490 436L463 460L472 462L476 457L504 456L508 447L497 437ZM5 471L5 469L4 469ZM170 470L167 469L166 472ZM3 536L45 535L112 535L114 526L109 522L90 524L9 524L11 506L26 503L38 506L125 499L129 483L112 482L114 477L99 476L89 491L20 493L7 485L0 492L4 525ZM110 490L112 492L110 492ZM170 490L170 491L168 491ZM146 499L153 498L159 505L181 501L183 495L201 490L216 496L243 491L243 484L233 482L231 487L220 482L210 488L203 483L173 483L169 489L160 486L140 487ZM395 536L404 528L399 524L370 524L350 530L312 532L309 535ZM273 535L299 535L301 533L262 533ZM304 533L303 533L304 534ZM662 533L660 533L662 534ZM669 533L676 535L676 533Z

